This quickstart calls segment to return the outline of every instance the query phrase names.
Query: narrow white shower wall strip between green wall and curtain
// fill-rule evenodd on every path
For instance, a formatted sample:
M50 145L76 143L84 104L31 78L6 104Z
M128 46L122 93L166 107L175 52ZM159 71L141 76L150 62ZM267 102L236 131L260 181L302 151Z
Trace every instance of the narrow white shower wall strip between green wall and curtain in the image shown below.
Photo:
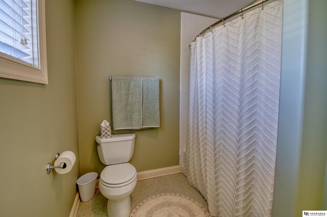
M181 13L180 33L180 112L179 112L179 164L183 164L183 152L186 144L186 126L188 120L190 51L193 39L218 19L190 13Z

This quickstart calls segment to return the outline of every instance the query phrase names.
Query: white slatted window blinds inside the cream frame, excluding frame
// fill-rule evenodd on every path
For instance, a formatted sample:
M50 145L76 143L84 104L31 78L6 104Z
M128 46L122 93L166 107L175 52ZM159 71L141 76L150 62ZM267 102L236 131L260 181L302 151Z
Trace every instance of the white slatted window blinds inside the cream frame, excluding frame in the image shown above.
M0 55L39 68L37 0L0 0Z

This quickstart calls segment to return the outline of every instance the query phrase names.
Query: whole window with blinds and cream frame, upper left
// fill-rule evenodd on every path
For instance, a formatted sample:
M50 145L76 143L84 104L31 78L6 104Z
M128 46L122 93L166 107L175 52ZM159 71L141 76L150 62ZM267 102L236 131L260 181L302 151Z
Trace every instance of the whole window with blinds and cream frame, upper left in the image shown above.
M48 84L45 0L0 0L0 77Z

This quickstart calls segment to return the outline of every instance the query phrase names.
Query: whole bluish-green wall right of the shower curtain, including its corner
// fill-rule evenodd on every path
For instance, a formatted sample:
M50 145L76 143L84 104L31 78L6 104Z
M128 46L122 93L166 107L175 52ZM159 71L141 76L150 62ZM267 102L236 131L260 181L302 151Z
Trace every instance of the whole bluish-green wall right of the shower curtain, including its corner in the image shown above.
M325 209L327 2L284 0L272 216ZM326 186L325 186L326 187Z

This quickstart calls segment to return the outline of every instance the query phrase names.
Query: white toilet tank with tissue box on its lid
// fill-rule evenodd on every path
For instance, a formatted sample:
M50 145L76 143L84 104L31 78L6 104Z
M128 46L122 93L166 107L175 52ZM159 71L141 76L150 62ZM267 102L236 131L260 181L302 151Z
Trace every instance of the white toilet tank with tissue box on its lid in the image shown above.
M128 162L134 152L135 133L112 134L111 138L102 139L97 135L99 158L104 165Z

